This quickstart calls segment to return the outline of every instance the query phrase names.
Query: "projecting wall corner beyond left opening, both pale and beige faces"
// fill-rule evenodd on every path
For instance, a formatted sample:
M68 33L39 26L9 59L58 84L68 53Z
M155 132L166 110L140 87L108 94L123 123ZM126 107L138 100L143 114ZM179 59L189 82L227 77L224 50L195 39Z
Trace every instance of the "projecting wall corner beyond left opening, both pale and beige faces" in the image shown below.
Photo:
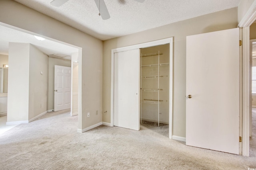
M31 44L9 43L9 64L7 121L30 121L48 110L48 56Z

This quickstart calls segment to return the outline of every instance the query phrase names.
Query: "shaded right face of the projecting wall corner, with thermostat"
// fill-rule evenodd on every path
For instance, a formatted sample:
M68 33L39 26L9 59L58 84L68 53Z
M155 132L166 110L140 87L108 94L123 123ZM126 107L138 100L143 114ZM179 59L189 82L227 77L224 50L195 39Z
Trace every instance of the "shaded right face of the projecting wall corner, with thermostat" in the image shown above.
M48 111L48 55L30 44L28 120L45 111Z

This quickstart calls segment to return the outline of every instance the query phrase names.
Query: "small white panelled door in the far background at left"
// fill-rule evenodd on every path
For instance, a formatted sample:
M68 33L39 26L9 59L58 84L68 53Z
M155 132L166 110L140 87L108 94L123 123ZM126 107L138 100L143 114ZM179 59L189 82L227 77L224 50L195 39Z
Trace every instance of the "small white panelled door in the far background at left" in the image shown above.
M71 67L54 66L54 111L71 107Z

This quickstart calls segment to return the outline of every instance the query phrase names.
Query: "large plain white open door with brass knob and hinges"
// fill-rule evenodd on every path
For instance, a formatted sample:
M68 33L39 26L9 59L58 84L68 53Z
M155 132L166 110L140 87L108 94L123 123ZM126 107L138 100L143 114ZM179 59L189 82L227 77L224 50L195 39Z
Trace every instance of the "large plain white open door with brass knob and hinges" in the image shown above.
M186 145L239 154L239 28L186 41Z

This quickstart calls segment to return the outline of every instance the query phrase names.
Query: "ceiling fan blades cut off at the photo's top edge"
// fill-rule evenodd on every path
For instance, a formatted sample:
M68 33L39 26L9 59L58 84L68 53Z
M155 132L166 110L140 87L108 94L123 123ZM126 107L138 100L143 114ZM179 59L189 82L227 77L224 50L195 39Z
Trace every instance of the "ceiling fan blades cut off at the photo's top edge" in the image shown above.
M68 0L53 0L52 2L50 2L50 4L52 6L62 6L64 3L66 3ZM137 2L144 2L144 0L135 0ZM94 2L96 3L96 6L98 7L99 10L99 16L101 16L101 18L103 20L108 20L110 18L110 15L108 13L108 8L104 2L104 0L94 0Z

